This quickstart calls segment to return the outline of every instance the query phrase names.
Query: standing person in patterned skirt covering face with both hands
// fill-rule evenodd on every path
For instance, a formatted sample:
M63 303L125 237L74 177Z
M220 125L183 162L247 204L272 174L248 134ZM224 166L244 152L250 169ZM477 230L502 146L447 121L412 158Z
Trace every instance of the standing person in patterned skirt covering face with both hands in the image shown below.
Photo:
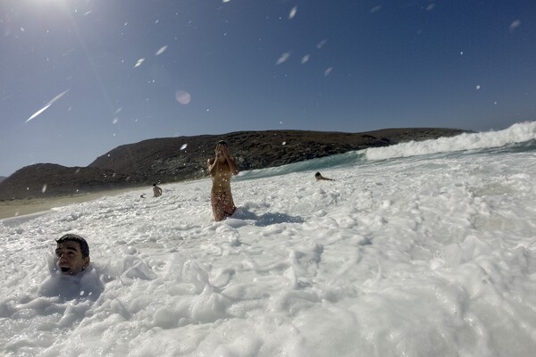
M235 158L230 156L227 143L223 140L216 144L214 154L215 157L208 159L206 165L213 179L210 202L214 220L219 221L231 216L237 209L230 193L230 178L237 175L239 170Z

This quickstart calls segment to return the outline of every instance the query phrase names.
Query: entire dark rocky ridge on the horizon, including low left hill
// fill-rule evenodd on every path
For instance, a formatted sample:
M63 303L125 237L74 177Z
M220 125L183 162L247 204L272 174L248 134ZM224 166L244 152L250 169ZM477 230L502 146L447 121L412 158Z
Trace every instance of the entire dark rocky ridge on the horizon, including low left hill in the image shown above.
M121 145L88 167L38 163L0 182L0 200L76 195L206 176L218 140L227 141L239 170L281 166L367 147L452 137L458 129L381 129L364 133L302 130L239 131L223 135L164 137Z

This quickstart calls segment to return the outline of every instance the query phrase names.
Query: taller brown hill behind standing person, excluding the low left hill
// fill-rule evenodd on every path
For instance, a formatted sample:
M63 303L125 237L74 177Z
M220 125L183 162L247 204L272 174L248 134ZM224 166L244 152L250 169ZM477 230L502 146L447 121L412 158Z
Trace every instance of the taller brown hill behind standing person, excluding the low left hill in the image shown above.
M168 182L204 177L206 159L214 154L218 140L227 141L240 170L255 170L366 147L450 137L461 132L457 129L382 129L366 133L270 130L166 137L121 145L89 166L129 174L137 183ZM187 146L180 150L183 145Z

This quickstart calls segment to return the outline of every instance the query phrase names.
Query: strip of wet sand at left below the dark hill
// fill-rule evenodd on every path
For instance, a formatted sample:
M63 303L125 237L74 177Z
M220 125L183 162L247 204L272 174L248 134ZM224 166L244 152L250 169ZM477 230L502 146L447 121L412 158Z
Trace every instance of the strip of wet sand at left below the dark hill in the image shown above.
M143 188L130 187L121 188L117 190L99 191L91 194L80 194L43 199L36 198L27 200L3 201L0 202L0 220L25 216L38 212L46 212L53 209L54 207L63 207L72 203L93 201L101 197L120 195L129 191L142 191L141 193L144 193ZM147 191L145 192L146 195L149 195L149 193L152 195L151 188L146 188L145 191Z

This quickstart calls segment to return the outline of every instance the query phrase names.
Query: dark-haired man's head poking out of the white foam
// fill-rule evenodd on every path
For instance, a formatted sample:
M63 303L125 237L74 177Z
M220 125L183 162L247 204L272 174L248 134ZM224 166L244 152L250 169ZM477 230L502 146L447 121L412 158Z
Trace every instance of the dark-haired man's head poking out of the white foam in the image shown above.
M66 234L57 239L56 244L55 254L63 274L76 275L88 268L89 246L86 239L75 234Z

